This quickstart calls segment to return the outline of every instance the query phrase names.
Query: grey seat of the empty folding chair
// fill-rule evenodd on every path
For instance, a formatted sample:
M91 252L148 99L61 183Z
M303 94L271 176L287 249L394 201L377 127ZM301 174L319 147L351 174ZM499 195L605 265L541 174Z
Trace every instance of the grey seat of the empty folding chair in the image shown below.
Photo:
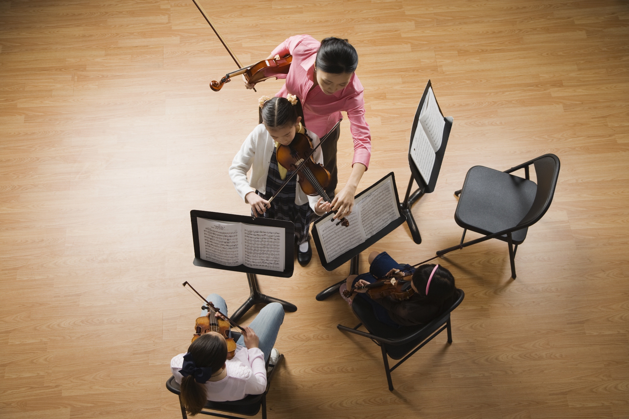
M536 192L537 185L531 180L474 166L467 171L454 219L460 227L485 235L503 231L520 223L531 209ZM523 242L527 230L511 233L513 243Z

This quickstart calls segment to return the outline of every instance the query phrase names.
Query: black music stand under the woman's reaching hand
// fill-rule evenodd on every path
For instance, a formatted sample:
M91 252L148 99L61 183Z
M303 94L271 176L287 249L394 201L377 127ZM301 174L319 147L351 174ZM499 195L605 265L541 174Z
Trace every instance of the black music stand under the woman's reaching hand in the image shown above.
M364 191L360 192L358 195L355 196L355 199L358 199L360 197L360 195L364 195L365 193L369 192L369 190L374 188L376 185L381 183L383 180L386 180L386 178L388 178L388 177L391 177L393 192L395 194L396 205L398 206L398 209L399 209L400 203L399 203L399 197L398 197L398 188L396 187L395 175L394 175L393 172L387 174L385 177L383 177L382 179L378 180L376 183L371 185L369 188L367 188ZM394 231L398 226L403 224L404 221L406 220L406 217L404 217L404 215L400 212L399 213L399 217L397 219L392 220L391 222L389 222L389 224L387 224L387 226L382 228L376 234L374 234L371 237L368 237L367 240L365 240L364 242L360 243L359 245L355 246L352 249L349 249L347 252L341 254L337 258L335 258L332 261L328 262L328 261L324 261L323 260L323 258L324 258L324 256L323 256L323 254L324 254L323 253L323 246L321 246L321 240L319 238L319 234L318 234L318 231L316 229L317 222L320 222L320 220L325 218L328 214L323 215L318 220L316 220L313 223L313 229L312 229L313 241L315 242L315 246L316 246L317 252L319 254L319 257L321 258L321 266L323 266L323 268L325 268L327 271L331 271L333 269L338 268L343 263L345 263L347 261L350 261L350 273L349 273L349 275L359 275L359 270L358 269L359 269L359 262L360 262L360 252L362 252L365 249L369 248L369 246L372 246L372 244L374 244L377 241L379 241L380 239L382 239L382 237L384 237L387 234L389 234L390 232ZM343 228L345 228L345 227L343 227ZM318 293L316 295L316 300L323 301L326 298L330 297L330 295L332 295L333 293L338 291L338 288L344 282L345 282L345 280L342 280L342 281L338 281L337 283L335 283L333 285L328 286L328 288L326 288L325 290L321 291L320 293Z

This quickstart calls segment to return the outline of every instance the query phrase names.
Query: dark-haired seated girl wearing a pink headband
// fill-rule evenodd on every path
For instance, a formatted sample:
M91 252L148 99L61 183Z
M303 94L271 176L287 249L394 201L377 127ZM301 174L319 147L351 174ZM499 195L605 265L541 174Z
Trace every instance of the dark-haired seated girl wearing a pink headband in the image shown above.
M374 315L382 323L394 328L400 326L412 326L426 324L444 312L454 303L456 287L454 276L448 269L438 264L423 264L418 268L411 268L406 264L401 266L386 252L369 254L369 272L360 275L350 275L347 282L340 287L341 296L352 305L353 298L359 295L369 302ZM399 271L401 269L401 271ZM352 297L343 296L343 291L352 286L367 285L376 282L377 278L395 276L398 279L412 275L407 286L413 288L415 293L408 300L395 300L392 297L372 300L367 294L367 289L357 290Z

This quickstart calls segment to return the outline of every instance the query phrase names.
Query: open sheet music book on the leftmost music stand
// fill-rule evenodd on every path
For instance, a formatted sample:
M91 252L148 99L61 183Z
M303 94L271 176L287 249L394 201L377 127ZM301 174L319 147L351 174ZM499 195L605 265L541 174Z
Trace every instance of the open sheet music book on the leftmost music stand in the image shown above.
M225 266L284 271L285 229L197 217L201 259Z

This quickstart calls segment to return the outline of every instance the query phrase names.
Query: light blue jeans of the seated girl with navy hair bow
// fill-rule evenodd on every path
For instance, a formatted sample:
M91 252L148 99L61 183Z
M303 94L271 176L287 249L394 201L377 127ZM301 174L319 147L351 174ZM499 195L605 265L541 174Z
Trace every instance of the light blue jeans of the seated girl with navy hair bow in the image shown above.
M212 302L214 307L221 310L221 313L228 315L227 303L223 300L223 297L218 294L210 294L206 300ZM208 315L208 310L203 310L201 317L206 315ZM282 322L284 322L284 307L280 303L269 303L260 310L249 325L260 338L259 347L260 351L264 353L265 362L269 359L271 349L275 345L277 332L279 332ZM245 346L245 339L241 336L236 343Z

